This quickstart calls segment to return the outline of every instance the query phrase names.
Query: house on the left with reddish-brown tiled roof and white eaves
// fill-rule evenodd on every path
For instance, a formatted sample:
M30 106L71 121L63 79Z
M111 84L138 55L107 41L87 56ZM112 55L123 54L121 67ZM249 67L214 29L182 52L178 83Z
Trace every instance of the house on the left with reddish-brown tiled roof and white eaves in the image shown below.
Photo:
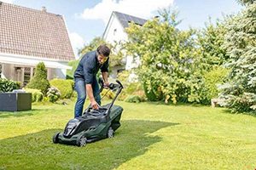
M66 78L72 59L63 16L0 1L0 77L26 84L44 62L49 80Z

